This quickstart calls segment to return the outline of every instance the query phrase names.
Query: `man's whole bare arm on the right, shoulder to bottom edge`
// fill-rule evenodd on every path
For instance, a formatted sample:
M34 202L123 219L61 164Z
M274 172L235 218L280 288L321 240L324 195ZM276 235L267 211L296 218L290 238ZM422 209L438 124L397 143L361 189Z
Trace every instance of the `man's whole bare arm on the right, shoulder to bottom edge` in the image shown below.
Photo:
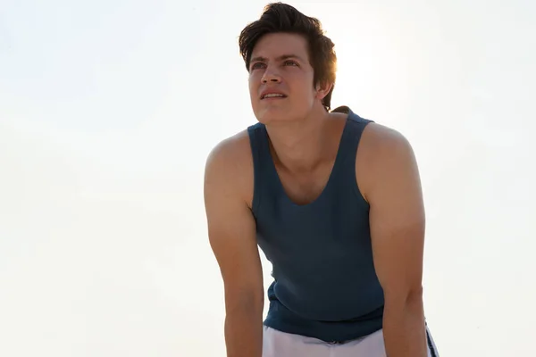
M374 267L385 295L386 352L389 357L425 357L425 217L415 154L395 130L372 124L365 133L370 154L364 195L370 203Z

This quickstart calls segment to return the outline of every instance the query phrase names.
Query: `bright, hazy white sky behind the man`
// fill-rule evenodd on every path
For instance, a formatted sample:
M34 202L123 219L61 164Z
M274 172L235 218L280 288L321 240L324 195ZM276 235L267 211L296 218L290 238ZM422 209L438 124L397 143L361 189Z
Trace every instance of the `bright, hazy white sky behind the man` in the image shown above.
M0 355L225 355L203 170L255 123L264 4L2 2ZM290 4L337 46L333 106L414 145L441 355L536 355L536 3Z

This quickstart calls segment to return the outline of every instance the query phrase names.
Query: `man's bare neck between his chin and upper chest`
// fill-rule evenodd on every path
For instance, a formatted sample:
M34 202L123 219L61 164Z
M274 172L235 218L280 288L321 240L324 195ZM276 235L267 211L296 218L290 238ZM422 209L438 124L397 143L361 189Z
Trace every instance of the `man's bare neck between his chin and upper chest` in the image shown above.
M328 143L325 129L330 113L312 111L303 120L292 120L267 125L266 130L275 154L274 161L285 170L303 172L313 170L322 161Z

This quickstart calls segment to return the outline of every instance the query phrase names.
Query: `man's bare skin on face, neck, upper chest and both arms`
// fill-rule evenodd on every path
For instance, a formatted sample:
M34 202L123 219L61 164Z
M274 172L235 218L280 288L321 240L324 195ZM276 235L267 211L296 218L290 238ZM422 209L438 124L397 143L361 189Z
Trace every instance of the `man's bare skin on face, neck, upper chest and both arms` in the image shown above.
M288 55L293 57L283 57ZM303 37L262 37L252 58L257 60L248 85L255 117L266 125L285 191L296 203L309 203L330 176L346 114L324 110L321 101L331 84L314 86ZM265 90L287 97L266 101ZM386 351L389 357L426 356L424 210L411 145L396 130L369 124L356 154L356 179L371 208L373 259L385 292ZM251 213L253 183L244 130L216 145L205 167L205 211L224 283L228 357L262 355L264 285Z

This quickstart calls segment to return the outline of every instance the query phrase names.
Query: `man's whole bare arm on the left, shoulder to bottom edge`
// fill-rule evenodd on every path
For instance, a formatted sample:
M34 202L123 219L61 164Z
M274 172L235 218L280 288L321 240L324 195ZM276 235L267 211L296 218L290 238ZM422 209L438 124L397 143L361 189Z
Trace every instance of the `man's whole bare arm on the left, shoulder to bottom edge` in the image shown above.
M228 357L261 357L263 348L264 287L248 203L253 195L249 153L249 142L234 137L214 148L205 167L205 212L225 289Z

